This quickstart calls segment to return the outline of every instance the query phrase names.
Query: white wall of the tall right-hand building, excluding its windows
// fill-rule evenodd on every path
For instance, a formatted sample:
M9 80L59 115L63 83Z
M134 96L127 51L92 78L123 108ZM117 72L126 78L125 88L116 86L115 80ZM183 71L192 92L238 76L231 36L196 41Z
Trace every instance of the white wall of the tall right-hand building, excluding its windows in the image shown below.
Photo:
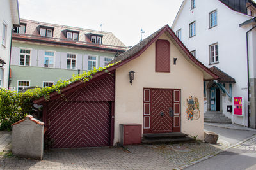
M196 59L205 66L216 66L235 78L232 96L243 96L247 101L247 90L242 88L247 87L246 31L250 28L241 28L239 24L251 17L237 13L217 0L196 0L196 8L190 8L191 1L184 1L182 12L172 25L173 31L182 29L182 42L190 51L196 50ZM209 13L214 10L218 13L218 25L209 29ZM196 21L196 36L189 38L189 23L193 21ZM213 43L218 43L219 63L209 65L209 45ZM227 96L222 97L222 101L223 113L231 117L227 105L232 103ZM238 117L235 122L243 124L243 118Z

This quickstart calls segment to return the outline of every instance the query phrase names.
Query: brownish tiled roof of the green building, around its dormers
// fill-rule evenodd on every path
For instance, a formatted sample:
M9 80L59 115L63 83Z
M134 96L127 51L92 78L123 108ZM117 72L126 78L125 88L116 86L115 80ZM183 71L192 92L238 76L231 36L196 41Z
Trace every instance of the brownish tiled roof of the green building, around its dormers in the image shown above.
M45 22L37 22L37 21L25 20L25 19L20 19L20 22L26 23L26 34L31 36L40 36L38 26L46 26L46 27L54 28L52 38L67 40L65 34L63 34L63 31L68 29L72 31L79 31L79 42L81 41L86 43L92 43L90 39L86 38L85 34L88 34L88 33L101 34L103 35L102 45L120 46L120 47L126 48L124 43L122 43L120 39L116 38L116 36L111 32L95 31L91 29L82 29L82 28L70 27L65 25L49 24Z

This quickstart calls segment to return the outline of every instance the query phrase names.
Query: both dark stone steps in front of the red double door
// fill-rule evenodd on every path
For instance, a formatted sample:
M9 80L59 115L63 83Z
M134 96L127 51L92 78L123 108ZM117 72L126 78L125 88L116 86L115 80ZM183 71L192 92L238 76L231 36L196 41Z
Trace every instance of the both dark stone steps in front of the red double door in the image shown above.
M194 142L194 138L188 137L187 134L174 132L163 134L143 134L142 143L181 143Z

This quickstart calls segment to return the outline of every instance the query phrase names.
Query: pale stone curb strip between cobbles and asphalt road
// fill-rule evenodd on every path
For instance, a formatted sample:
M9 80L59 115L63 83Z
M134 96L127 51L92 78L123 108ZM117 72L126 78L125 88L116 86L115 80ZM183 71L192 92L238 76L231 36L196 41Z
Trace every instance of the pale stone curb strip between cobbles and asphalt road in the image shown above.
M211 157L213 157L213 156L215 156L215 155L218 155L219 153L224 152L224 151L226 151L226 150L228 150L228 149L230 149L230 148L234 148L234 147L237 146L237 145L241 145L242 143L244 143L244 142L246 142L246 141L248 141L248 140L250 140L250 139L253 139L253 138L256 138L256 134L254 134L253 136L250 136L250 137L244 139L243 141L239 141L238 143L235 143L234 145L230 145L230 146L228 146L227 148L224 148L223 150L220 150L220 151L218 151L218 152L211 153L211 154L209 154L209 155L207 155L207 156L205 156L205 157L202 157L201 159L195 160L195 161L193 161L193 162L189 162L189 163L186 164L185 166L181 166L181 167L175 168L175 169L176 169L176 170L180 170L180 169L184 169L184 168L186 168L186 167L192 166L192 165L194 165L194 164L196 164L196 163L198 163L198 162L202 162L203 160L206 160L206 159L209 159L209 158L211 158Z

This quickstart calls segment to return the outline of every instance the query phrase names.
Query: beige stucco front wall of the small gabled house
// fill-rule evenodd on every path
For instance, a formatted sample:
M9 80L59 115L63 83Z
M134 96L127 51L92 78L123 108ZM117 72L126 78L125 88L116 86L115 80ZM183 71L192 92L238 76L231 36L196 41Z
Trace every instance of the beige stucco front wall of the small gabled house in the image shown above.
M167 39L163 34L159 39ZM178 48L171 44L171 72L155 72L155 43L124 66L116 69L116 93L115 93L115 137L114 145L120 141L119 124L143 125L143 88L170 88L181 89L181 132L189 136L198 135L197 139L203 139L204 134L204 83L203 73L190 64L180 53ZM173 65L173 58L177 58L177 64ZM129 83L129 71L135 71L132 85ZM186 114L186 99L189 96L198 97L200 103L200 118L188 120Z

